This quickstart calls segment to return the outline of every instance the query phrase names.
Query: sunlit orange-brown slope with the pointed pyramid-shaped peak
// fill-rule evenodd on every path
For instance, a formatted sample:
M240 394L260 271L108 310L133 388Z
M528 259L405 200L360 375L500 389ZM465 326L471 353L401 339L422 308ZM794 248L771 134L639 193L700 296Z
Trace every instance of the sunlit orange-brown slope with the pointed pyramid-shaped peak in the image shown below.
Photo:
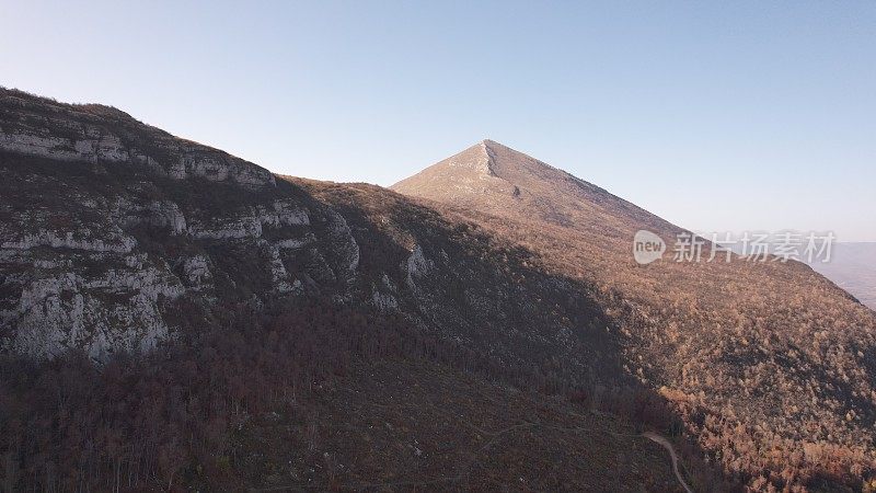
M670 251L638 265L637 230L670 250L683 230L489 140L392 188L596 286L625 371L673 400L728 471L761 488L872 474L876 314L809 267L717 251L706 262L707 242L702 262L673 262Z

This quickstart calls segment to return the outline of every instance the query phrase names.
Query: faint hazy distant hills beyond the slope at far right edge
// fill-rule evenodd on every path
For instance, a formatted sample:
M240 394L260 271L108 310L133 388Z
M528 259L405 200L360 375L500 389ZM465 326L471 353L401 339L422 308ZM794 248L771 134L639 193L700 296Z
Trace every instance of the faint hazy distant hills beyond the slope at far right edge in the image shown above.
M810 266L876 310L876 243L838 243L829 262Z

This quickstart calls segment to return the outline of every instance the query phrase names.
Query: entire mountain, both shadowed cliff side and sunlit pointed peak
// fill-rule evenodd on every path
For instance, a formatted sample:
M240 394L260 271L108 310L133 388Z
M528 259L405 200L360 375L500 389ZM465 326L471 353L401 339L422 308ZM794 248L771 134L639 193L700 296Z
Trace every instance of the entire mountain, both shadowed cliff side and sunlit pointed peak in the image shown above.
M872 310L496 142L396 193L0 90L0 173L5 490L874 479Z

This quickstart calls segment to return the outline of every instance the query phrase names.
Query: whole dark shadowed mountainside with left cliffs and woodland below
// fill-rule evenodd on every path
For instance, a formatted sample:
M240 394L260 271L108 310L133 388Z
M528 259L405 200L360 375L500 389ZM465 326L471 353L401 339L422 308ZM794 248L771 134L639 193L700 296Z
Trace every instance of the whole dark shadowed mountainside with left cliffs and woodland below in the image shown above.
M18 490L671 491L721 471L590 286L371 185L0 90L0 460Z

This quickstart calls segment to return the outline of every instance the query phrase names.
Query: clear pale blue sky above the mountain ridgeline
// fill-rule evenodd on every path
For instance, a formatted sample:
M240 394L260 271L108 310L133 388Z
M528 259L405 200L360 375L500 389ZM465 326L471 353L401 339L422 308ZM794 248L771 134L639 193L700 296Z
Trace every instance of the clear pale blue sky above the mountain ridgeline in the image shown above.
M279 173L491 138L687 228L876 241L874 1L4 1L0 84Z

